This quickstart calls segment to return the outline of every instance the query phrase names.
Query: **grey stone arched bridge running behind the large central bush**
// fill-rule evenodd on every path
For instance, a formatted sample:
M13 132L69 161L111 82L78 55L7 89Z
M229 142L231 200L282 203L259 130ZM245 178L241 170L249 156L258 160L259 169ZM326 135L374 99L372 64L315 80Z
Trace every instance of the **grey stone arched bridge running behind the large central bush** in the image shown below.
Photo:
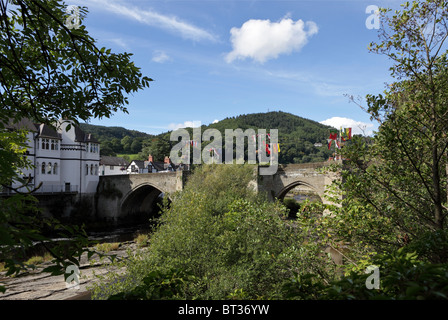
M328 162L280 165L271 176L258 175L254 181L259 192L269 199L283 199L297 186L314 191L322 200L325 187L335 175L323 174L318 169ZM182 190L189 172L160 172L146 174L100 176L96 194L97 218L110 222L145 222L158 212L161 196ZM324 200L323 200L324 201Z

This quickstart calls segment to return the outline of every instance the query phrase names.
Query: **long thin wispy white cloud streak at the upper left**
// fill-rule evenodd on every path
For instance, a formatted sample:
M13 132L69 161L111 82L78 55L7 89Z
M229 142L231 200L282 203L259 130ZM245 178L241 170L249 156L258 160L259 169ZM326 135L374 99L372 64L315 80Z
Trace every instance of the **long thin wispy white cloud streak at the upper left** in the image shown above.
M119 14L152 27L170 31L173 34L180 35L185 39L195 41L216 40L215 36L210 32L188 22L182 21L175 16L163 15L155 11L132 7L127 3L121 4L119 1L95 0L89 2L95 2L97 5L101 6L103 10L108 10L115 14Z

